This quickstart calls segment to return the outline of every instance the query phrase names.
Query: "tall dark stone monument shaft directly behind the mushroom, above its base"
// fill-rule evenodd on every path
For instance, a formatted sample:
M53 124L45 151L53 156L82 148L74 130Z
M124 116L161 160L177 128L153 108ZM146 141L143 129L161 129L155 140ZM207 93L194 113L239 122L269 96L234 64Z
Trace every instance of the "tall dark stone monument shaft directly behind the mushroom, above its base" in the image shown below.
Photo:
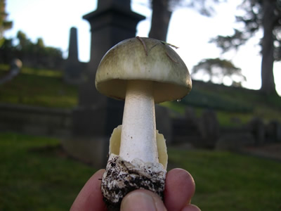
M79 86L79 106L74 111L74 135L110 136L122 123L123 102L107 98L96 91L96 69L103 55L115 44L136 36L142 15L131 11L129 0L98 1L96 11L84 15L91 25L91 58Z

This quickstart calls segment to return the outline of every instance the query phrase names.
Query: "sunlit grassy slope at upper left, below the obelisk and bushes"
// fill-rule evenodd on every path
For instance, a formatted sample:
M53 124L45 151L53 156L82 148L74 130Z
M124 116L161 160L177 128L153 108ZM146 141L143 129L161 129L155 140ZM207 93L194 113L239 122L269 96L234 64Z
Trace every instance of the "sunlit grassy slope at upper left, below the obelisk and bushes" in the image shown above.
M5 66L0 65L2 75L3 72L6 72ZM73 108L77 105L77 87L65 84L59 71L22 68L11 82L1 85L0 102Z

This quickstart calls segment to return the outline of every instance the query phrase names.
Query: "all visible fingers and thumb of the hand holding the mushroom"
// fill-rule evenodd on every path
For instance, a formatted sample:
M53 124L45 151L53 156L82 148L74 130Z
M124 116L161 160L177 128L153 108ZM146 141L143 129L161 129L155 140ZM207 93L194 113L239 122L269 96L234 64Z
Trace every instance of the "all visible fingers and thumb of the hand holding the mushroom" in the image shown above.
M100 179L105 170L99 170L86 182L70 211L102 211L107 210L100 191ZM147 190L136 190L127 194L122 200L121 210L174 210L198 211L190 201L195 193L195 182L185 170L174 169L166 174L164 202L155 193Z

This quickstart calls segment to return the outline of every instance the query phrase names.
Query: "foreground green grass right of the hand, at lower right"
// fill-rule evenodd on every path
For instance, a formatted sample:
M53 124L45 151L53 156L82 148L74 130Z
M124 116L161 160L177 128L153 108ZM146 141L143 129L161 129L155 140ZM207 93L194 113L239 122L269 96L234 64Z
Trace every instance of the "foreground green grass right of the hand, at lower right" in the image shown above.
M169 150L196 183L202 210L281 210L281 163L220 151Z

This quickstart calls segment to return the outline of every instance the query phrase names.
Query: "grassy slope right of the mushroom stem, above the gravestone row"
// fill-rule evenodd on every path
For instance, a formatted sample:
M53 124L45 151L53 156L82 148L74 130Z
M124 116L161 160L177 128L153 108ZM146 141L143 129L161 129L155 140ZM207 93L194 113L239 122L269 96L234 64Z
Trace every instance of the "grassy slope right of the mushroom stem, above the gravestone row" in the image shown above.
M270 120L281 122L281 97L263 96L258 91L243 89L207 89L193 87L188 96L181 102L165 102L166 106L179 115L184 115L187 106L195 109L195 115L200 117L204 110L216 112L218 122L223 127L241 126L247 124L253 117L261 118L264 123Z

